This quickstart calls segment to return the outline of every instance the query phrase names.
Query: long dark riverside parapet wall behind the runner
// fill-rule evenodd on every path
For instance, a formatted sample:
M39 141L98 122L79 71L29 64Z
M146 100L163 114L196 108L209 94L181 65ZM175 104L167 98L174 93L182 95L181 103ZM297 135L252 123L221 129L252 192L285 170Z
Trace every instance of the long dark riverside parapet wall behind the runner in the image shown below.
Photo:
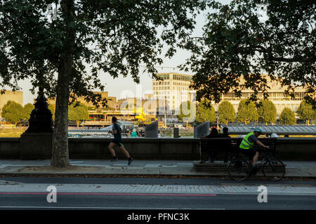
M112 139L69 139L70 159L110 159ZM127 151L137 160L199 160L199 139L123 139ZM49 153L37 155L38 144L28 141L21 151L20 138L0 138L0 159L51 159ZM49 145L49 144L48 144ZM116 148L120 159L124 154ZM27 156L29 154L29 157ZM22 157L21 157L22 155ZM44 156L45 155L45 156ZM281 160L316 160L316 138L277 138L277 157Z

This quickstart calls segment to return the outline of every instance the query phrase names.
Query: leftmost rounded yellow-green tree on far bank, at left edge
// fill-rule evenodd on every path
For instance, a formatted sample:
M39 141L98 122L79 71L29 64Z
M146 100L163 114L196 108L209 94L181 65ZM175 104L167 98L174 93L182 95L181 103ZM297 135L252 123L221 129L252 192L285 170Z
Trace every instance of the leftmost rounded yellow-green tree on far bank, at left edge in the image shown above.
M24 118L23 107L14 101L8 101L4 105L1 116L8 122L16 125Z

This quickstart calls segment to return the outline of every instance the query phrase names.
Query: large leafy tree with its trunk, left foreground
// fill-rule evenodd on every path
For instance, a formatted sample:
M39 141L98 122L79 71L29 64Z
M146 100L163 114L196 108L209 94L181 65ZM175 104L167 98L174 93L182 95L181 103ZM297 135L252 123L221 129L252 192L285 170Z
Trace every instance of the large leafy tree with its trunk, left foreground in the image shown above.
M52 20L51 3L58 9ZM0 87L18 90L16 83L29 78L33 91L39 87L56 97L51 166L70 165L69 99L83 96L105 106L106 99L93 94L105 89L100 71L139 83L142 64L156 78L164 43L165 57L184 48L197 10L204 8L204 1L195 0L0 0Z

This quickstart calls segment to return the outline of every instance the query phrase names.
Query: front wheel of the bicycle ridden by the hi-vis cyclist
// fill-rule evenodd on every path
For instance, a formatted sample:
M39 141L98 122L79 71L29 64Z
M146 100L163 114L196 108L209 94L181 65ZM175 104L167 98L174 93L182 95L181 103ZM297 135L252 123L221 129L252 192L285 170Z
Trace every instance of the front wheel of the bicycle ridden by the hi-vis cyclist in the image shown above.
M280 160L271 159L265 162L262 172L269 181L279 181L285 175L285 165Z

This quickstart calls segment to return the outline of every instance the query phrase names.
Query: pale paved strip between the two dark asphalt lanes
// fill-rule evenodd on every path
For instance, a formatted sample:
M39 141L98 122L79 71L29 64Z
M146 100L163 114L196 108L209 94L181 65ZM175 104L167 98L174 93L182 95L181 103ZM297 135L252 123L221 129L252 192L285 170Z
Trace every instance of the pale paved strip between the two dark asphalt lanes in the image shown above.
M43 193L47 194L48 187L55 186L59 195L77 193L94 193L96 195L146 195L146 194L177 194L212 196L220 194L254 194L258 195L258 186L247 185L152 185L152 184L58 184L58 183L6 183L0 182L0 195L10 195L11 193ZM265 185L269 195L316 195L316 188L313 186L279 186Z

